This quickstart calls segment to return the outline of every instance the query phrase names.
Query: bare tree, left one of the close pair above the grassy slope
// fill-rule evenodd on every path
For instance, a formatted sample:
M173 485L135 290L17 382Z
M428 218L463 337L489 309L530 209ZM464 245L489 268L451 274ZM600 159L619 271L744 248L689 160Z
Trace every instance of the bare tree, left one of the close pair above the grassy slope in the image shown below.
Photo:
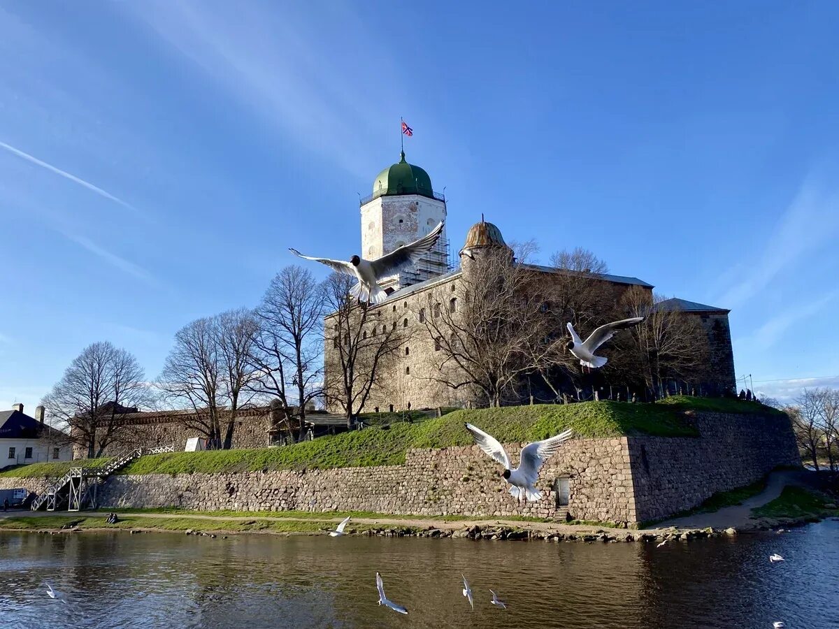
M224 408L216 322L192 321L175 333L175 346L166 356L158 386L168 402L185 408L181 423L204 435L211 448L221 447L220 415Z

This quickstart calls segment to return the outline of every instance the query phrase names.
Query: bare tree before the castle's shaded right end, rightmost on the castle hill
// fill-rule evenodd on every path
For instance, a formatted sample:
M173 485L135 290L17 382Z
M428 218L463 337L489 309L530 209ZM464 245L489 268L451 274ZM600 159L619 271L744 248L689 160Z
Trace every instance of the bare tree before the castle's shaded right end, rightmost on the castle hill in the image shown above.
M633 327L630 342L618 342L618 360L613 367L628 374L641 373L654 397L664 378L702 379L708 365L706 333L695 316L683 310L660 307L664 298L633 286L621 299L619 309L627 316L644 316ZM623 367L623 369L621 369Z

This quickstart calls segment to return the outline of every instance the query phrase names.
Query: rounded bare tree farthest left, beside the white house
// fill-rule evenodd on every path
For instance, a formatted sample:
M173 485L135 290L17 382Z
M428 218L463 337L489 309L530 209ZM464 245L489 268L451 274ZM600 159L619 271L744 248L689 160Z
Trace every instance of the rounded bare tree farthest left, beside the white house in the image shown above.
M125 408L149 401L149 387L137 359L107 341L87 346L42 400L50 422L66 427L70 441L102 456L130 427L118 417Z

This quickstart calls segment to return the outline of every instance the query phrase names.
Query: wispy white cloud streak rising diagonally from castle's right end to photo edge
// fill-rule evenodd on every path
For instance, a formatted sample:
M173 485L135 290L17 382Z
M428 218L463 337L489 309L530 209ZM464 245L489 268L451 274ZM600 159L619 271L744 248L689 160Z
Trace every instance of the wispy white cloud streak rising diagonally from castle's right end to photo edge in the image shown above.
M805 256L812 257L839 236L839 191L812 180L802 185L780 217L758 257L717 303L736 308L766 289L778 275ZM741 261L742 263L742 261Z

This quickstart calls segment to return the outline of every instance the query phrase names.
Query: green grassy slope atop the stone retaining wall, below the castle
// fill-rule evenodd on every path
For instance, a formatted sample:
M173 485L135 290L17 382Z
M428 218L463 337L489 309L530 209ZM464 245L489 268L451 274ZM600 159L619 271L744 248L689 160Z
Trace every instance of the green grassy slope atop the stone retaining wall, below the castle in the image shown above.
M245 470L399 465L412 448L445 448L472 444L464 422L476 424L502 443L545 439L571 427L583 437L618 437L624 434L695 436L685 424L690 410L717 412L766 412L767 407L738 400L668 398L655 404L586 402L569 405L539 404L505 408L458 410L441 418L414 424L397 423L386 428L368 428L321 437L283 448L176 452L143 456L128 465L124 474L182 474ZM34 465L29 466L34 467ZM11 470L0 476L22 476ZM25 471L26 476L44 476L49 470ZM63 473L63 472L61 472Z

